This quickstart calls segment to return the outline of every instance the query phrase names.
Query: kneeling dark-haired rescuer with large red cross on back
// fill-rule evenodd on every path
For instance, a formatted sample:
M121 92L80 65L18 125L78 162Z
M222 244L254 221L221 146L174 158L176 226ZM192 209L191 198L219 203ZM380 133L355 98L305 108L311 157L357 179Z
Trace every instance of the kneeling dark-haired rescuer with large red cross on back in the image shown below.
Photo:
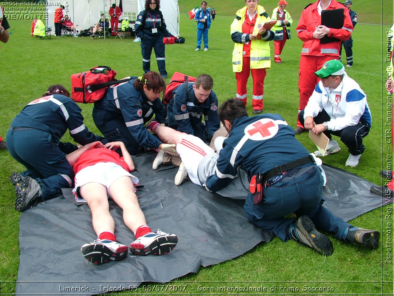
M251 180L244 205L246 217L281 240L293 239L329 256L333 244L318 228L333 232L342 241L378 247L378 231L354 227L323 207L322 170L282 116L248 117L241 101L229 99L219 107L219 117L229 138L224 140L215 174L206 179L207 189L226 187L240 167ZM292 213L298 217L296 221L285 218Z

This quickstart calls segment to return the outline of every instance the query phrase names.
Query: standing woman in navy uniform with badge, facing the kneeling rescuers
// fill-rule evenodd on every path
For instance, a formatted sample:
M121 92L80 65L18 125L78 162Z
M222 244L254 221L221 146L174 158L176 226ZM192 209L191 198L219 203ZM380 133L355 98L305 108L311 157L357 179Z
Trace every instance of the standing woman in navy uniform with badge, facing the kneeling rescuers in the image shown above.
M167 78L165 71L165 46L163 37L171 36L165 25L160 9L160 0L145 0L145 10L136 20L136 36L141 38L142 68L145 73L151 71L151 54L154 49L160 75Z

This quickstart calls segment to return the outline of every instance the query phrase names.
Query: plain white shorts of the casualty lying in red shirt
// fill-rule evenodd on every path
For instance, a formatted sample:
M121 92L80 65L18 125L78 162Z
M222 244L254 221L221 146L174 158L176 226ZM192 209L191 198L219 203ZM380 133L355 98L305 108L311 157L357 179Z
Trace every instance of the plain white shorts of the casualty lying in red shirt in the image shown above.
M112 162L99 162L95 165L91 165L89 167L85 167L76 173L74 181L74 189L72 189L72 193L75 195L76 201L84 201L79 193L79 187L87 184L87 183L99 183L107 187L107 195L109 196L109 188L113 182L117 179L128 176L134 184L134 192L137 191L136 187L139 183L137 177L134 177L132 174L127 172L123 167L117 165Z

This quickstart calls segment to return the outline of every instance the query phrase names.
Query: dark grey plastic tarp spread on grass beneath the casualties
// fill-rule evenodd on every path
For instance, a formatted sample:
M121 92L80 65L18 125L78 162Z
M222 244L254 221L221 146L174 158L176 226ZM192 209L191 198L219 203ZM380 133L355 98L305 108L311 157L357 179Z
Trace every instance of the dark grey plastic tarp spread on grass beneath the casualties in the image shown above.
M125 260L95 265L84 259L80 247L96 239L89 207L63 197L23 212L19 222L20 264L16 294L87 295L108 292L106 287L128 287L144 281L168 282L200 266L209 266L242 255L271 235L249 223L243 200L220 197L187 180L174 185L177 169L152 170L155 154L134 158L140 185L137 196L153 231L178 236L175 249L164 256L128 255ZM327 208L351 220L382 205L369 192L372 185L354 174L324 166ZM71 197L71 189L63 191ZM123 244L134 240L125 227L120 208L110 201L115 234ZM123 282L123 283L119 283ZM86 285L86 286L85 286ZM76 287L70 291L69 287ZM88 290L85 290L86 287Z

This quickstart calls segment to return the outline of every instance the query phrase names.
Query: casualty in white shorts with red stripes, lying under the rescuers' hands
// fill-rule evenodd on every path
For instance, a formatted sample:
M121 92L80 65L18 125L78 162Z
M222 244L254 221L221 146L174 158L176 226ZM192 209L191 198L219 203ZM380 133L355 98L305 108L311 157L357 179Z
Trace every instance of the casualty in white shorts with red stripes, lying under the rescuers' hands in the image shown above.
M176 145L177 153L182 159L182 163L175 176L175 185L182 184L188 175L191 182L203 186L206 178L214 174L218 154L199 137L162 126L154 120L149 123L149 128L163 141ZM223 139L225 138L218 137L215 141L217 151L221 150ZM246 189L248 186L247 174L243 170L239 170L234 182L217 191L217 194L233 199L245 199L248 193Z

